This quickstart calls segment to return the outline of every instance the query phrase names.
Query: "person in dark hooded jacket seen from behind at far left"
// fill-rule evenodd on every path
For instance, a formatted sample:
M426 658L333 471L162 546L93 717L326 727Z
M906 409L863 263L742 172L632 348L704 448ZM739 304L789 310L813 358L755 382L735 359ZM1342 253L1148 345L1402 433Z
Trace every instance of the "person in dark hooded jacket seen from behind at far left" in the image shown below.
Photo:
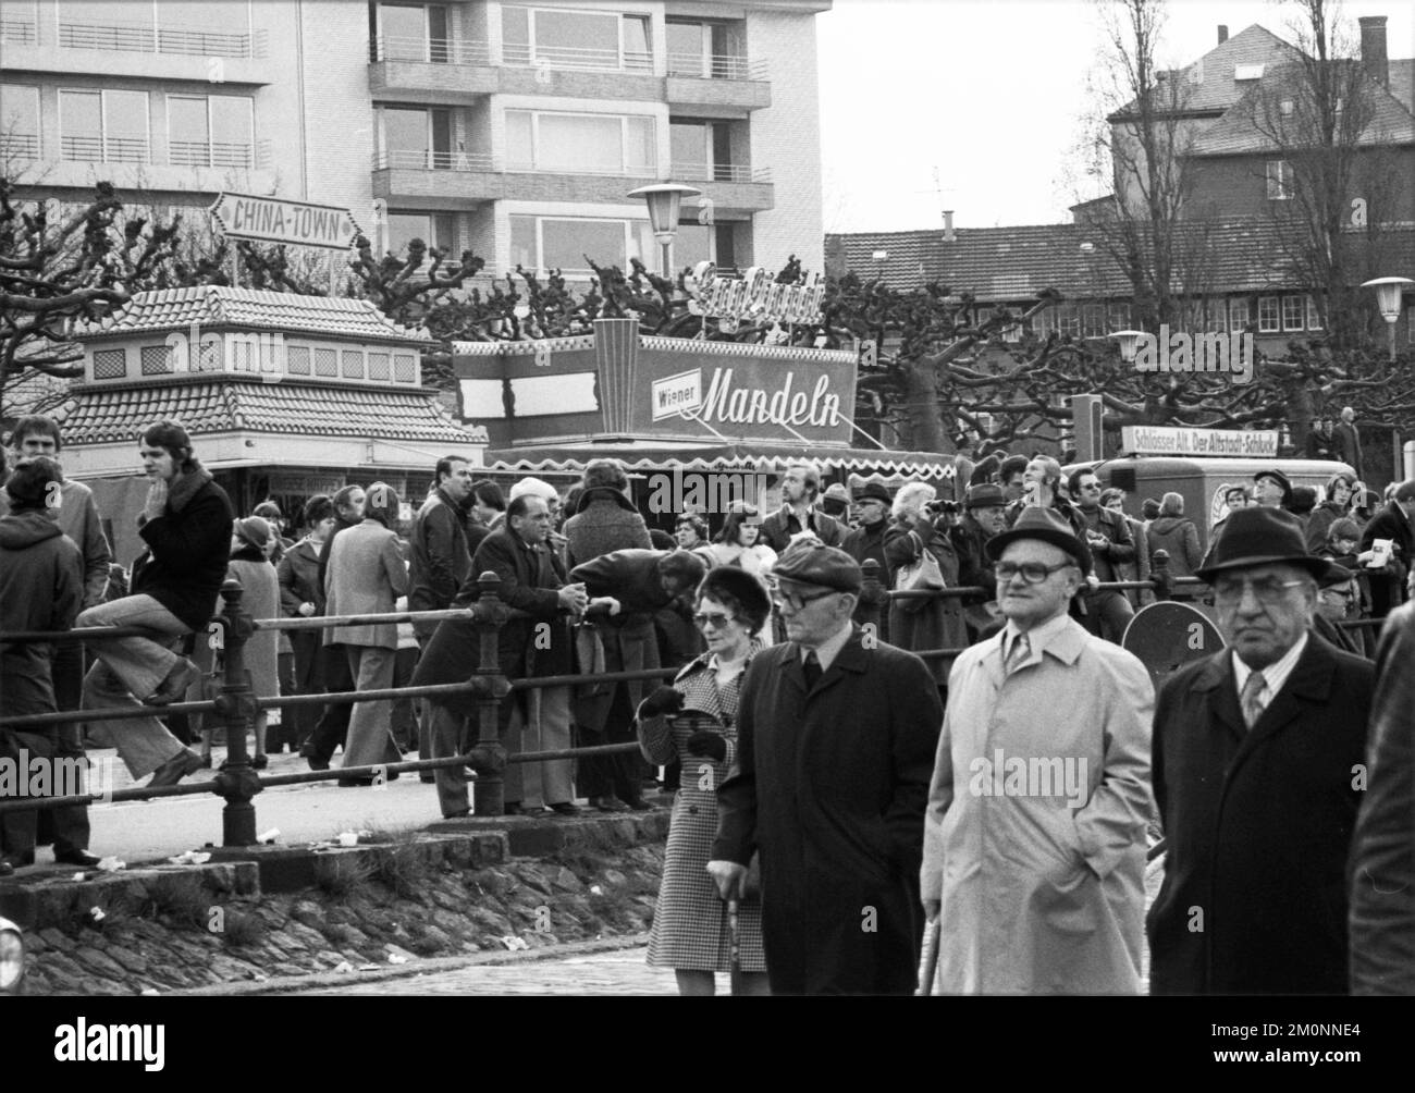
M6 483L11 514L0 517L0 631L74 626L83 597L83 556L51 511L62 481L59 464L40 457L21 460ZM47 641L0 646L6 714L58 711L50 677L52 656L54 646ZM0 762L27 782L28 760L52 759L57 742L57 726L0 729ZM0 816L0 876L34 862L37 821L30 811Z

